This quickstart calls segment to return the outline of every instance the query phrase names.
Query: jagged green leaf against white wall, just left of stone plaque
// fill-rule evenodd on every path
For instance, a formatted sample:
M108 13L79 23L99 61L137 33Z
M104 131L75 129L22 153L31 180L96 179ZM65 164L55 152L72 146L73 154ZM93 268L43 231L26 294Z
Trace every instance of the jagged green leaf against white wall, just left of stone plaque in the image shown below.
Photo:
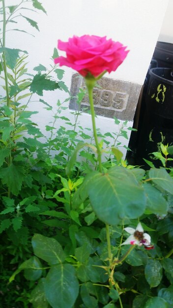
M40 96L43 96L43 90L54 91L60 88L57 82L50 80L46 77L46 74L35 75L30 84L30 91L33 93L37 93Z

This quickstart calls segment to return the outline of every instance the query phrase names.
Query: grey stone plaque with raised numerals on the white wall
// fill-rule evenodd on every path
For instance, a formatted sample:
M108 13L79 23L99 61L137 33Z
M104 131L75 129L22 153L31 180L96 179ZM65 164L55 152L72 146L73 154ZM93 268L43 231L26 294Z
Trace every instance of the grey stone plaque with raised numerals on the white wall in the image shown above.
M93 89L93 101L95 113L108 118L133 121L141 85L122 80L102 77L98 87ZM86 89L84 79L78 74L72 76L70 109L78 110L76 95L79 88ZM81 102L80 110L87 112L89 99L86 94Z

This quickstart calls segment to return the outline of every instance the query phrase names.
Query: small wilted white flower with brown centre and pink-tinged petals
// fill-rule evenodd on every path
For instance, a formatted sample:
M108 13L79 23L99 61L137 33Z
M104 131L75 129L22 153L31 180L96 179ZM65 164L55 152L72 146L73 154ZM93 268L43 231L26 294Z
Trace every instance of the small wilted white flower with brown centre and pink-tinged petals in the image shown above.
M151 237L149 236L149 234L144 233L144 229L142 227L141 222L138 223L136 229L124 228L124 230L131 235L121 245L129 245L129 244L138 246L144 245L146 249L147 247L150 249L153 248L153 246L151 246Z

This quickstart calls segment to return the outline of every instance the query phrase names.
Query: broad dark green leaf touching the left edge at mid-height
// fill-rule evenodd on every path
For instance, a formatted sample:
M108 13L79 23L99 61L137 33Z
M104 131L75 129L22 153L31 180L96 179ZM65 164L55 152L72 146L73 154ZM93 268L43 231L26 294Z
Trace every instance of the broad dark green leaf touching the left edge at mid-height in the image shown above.
M20 166L11 165L0 170L2 184L6 184L15 196L21 189L24 177L24 169Z

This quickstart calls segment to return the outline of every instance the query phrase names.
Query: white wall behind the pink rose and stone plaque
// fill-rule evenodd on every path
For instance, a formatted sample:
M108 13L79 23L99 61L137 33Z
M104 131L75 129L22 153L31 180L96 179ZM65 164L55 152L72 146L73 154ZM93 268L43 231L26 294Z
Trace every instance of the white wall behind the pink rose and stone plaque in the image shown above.
M14 5L19 0L6 0L6 5ZM83 34L95 34L112 38L128 46L130 53L115 72L107 77L144 83L146 71L152 57L160 32L168 0L40 0L47 11L47 16L28 12L24 15L36 20L40 32L28 27L27 21L21 19L21 28L34 33L35 38L22 32L7 32L7 47L20 48L29 52L29 71L41 63L48 66L57 40ZM15 28L17 28L15 26ZM59 52L59 54L63 54ZM65 68L67 86L70 88L74 73ZM43 99L55 106L67 96L60 91L44 92ZM51 119L39 104L32 104L30 109L40 109L39 125L44 127ZM69 111L65 116L71 117ZM103 132L115 131L113 119L98 117L97 125ZM90 117L80 117L83 126L91 126ZM129 123L132 125L132 123ZM123 141L124 142L124 141ZM127 145L127 142L126 142Z

